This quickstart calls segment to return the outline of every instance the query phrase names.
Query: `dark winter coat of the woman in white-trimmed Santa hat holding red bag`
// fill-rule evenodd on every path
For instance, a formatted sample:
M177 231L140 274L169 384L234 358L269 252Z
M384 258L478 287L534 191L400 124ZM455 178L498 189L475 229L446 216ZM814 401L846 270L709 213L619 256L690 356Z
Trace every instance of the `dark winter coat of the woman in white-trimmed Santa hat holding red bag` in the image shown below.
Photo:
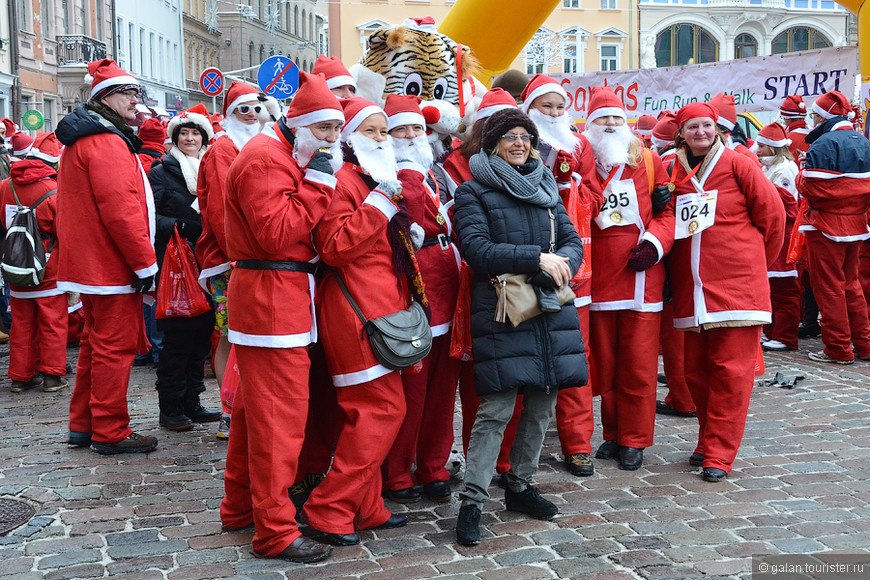
M176 223L178 232L190 243L191 249L195 249L196 240L202 233L202 218L191 204L196 200L196 195L187 190L184 175L181 173L181 165L171 155L154 163L148 172L148 181L154 190L154 207L157 214L157 234L154 238L154 248L157 251L157 264L163 268L163 255L166 253L166 244L172 237L172 231Z

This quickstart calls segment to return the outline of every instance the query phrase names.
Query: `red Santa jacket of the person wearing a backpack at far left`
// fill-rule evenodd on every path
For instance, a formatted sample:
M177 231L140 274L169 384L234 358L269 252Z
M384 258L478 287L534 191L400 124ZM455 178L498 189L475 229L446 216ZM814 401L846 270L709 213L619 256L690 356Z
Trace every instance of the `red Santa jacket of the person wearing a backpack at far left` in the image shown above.
M9 229L12 217L18 210L15 196L9 186L10 180L15 185L15 193L22 205L29 206L36 202L44 194L57 188L57 171L38 159L24 159L18 161L13 167L9 179L0 183L0 205L4 208L4 229ZM52 253L57 251L58 243L54 220L57 214L57 194L55 193L37 206L34 210L39 231L43 236L51 236L43 240L45 251L51 248ZM45 277L39 286L15 286L9 285L12 296L15 298L42 298L43 296L56 296L63 294L63 290L57 287L57 259L49 258L45 266Z

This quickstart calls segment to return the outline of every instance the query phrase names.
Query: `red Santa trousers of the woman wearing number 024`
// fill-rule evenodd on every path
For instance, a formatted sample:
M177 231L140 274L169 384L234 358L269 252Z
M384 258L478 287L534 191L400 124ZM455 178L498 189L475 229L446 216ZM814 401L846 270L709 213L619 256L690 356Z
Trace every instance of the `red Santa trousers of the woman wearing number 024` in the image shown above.
M743 440L755 383L760 326L686 332L686 380L698 409L698 445L704 467L726 472Z

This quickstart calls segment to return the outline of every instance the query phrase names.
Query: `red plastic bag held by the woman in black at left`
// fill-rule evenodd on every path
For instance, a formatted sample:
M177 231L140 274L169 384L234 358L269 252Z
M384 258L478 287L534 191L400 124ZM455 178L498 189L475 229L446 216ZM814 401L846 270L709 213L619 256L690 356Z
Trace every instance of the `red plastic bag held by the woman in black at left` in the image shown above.
M166 244L160 284L157 286L157 318L191 318L209 311L211 306L199 285L199 269L187 240L176 226Z

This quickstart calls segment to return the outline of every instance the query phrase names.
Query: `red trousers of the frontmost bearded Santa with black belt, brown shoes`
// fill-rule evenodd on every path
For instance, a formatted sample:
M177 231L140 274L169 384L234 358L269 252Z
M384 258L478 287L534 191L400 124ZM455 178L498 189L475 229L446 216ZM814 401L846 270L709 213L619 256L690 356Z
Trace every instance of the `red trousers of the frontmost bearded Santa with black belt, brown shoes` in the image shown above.
M241 382L224 472L221 522L230 528L254 523L251 544L260 556L275 556L301 534L287 489L308 414L308 348L235 345Z

